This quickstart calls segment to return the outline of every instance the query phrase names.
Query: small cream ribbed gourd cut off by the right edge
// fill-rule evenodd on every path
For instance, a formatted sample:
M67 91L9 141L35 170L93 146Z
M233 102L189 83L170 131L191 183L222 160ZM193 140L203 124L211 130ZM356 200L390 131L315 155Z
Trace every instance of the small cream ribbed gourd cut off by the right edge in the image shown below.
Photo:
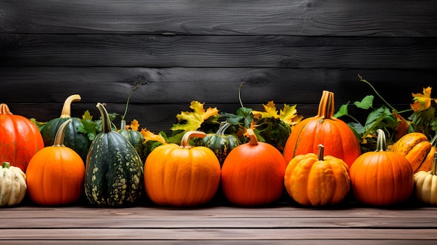
M415 196L417 200L429 205L437 205L437 152L431 171L420 171L414 175Z

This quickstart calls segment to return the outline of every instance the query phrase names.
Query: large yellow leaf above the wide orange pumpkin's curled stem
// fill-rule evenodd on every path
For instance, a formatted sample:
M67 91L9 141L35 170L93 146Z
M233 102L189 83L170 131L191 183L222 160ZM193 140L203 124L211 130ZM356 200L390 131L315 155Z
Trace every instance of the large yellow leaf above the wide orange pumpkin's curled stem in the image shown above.
M217 107L209 107L207 110L205 110L203 105L205 105L205 103L191 101L190 108L193 109L193 112L181 112L180 114L176 115L177 120L179 122L184 121L185 124L173 124L171 130L197 130L205 120L209 119L209 117L218 117Z

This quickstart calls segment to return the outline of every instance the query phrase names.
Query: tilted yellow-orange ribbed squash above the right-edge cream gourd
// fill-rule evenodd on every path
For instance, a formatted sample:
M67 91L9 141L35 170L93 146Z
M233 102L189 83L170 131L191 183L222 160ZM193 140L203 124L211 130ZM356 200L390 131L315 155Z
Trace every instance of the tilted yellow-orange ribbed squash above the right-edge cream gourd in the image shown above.
M436 147L423 133L413 132L403 135L390 150L405 156L416 173L431 170Z

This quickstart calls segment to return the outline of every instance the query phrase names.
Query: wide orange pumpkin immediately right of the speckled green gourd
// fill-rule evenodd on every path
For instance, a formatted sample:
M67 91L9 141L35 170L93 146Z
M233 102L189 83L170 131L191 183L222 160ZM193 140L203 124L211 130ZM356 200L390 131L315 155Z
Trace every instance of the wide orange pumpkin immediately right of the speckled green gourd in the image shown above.
M209 202L220 184L220 163L207 147L191 147L192 137L205 137L188 131L181 145L162 144L146 158L145 191L157 205L198 206Z

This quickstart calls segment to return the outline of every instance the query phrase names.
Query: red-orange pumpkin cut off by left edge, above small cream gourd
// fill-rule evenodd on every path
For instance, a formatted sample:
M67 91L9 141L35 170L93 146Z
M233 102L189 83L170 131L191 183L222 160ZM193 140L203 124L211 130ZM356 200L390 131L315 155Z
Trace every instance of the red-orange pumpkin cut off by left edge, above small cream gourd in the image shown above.
M0 163L10 162L26 172L32 156L43 147L43 137L35 124L0 104Z

